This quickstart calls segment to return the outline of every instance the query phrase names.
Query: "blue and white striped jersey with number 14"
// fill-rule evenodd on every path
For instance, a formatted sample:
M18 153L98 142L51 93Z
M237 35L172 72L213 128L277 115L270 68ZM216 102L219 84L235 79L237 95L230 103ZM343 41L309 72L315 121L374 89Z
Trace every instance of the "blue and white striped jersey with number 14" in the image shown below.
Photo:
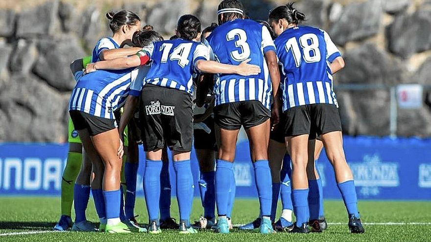
M144 85L174 88L192 95L195 63L208 60L209 50L199 42L176 39L153 43L138 55L147 55L152 61Z

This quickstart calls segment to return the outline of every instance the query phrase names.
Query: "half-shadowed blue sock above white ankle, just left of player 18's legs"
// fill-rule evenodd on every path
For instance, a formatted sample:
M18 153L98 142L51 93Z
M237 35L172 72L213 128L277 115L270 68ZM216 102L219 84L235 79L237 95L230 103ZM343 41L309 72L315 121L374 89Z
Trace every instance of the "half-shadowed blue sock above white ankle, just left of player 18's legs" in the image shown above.
M280 197L281 197L281 204L283 206L283 209L293 210L293 204L292 204L292 188L290 186L290 175L292 171L290 168L290 156L288 154L285 155L285 158L283 159L283 167L281 169L280 178L281 178L281 184L280 184Z

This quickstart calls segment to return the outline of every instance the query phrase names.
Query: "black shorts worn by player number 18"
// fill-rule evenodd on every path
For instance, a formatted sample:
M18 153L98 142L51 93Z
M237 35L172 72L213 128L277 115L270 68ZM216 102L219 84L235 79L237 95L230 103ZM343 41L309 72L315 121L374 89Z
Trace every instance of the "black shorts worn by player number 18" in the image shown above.
M311 104L293 107L283 113L285 135L310 134L315 139L324 133L342 131L340 114L333 104Z

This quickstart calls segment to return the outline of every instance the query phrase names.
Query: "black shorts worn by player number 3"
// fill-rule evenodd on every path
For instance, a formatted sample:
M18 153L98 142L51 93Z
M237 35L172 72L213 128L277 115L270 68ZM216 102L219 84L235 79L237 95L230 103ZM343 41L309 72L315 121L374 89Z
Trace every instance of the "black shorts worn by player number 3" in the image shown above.
M216 124L224 130L239 130L263 124L271 117L271 112L259 101L225 103L214 108Z

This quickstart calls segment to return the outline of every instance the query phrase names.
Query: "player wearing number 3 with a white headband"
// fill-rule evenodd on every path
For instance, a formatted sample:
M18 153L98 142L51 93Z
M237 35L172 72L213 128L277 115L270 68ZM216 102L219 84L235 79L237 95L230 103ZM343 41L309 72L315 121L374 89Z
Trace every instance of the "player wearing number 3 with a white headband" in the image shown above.
M271 174L267 155L270 100L271 94L276 96L280 83L275 45L266 27L258 22L244 20L244 8L239 0L220 2L218 22L220 26L207 38L218 61L238 64L250 58L253 64L259 65L264 71L247 77L220 75L216 80L214 114L215 122L220 127L216 160L217 231L229 233L226 218L229 191L235 184L233 162L239 129L243 126L250 141L262 211L260 232L268 234L273 232L270 220ZM275 120L278 119L278 103L276 100L273 109Z

